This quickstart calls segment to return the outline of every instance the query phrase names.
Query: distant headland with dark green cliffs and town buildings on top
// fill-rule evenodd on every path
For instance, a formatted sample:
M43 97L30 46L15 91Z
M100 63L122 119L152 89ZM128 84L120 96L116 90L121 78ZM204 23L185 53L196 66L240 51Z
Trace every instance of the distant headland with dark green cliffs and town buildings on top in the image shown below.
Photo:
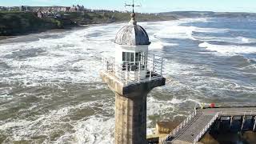
M137 14L138 21L175 20L172 15ZM0 6L0 36L14 36L88 24L123 22L128 11L91 10L85 6Z

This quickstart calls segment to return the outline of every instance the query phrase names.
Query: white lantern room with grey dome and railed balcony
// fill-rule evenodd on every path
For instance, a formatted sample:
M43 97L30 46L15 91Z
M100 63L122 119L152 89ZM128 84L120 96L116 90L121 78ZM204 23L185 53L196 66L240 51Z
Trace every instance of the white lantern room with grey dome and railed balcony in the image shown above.
M162 58L148 54L148 34L137 25L135 14L127 26L123 26L115 38L114 58L103 58L106 73L110 73L124 85L162 77Z

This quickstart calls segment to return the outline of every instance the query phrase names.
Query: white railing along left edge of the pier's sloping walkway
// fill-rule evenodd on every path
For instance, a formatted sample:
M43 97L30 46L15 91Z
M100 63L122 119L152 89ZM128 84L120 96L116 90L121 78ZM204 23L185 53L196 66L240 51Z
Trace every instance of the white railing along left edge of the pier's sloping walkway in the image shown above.
M174 130L170 132L170 134L166 136L165 141L167 141L171 136L174 136L175 134L177 134L179 130L182 130L182 128L184 128L186 124L196 116L196 114L197 114L197 110L194 110L192 114L190 114L182 123L180 123Z

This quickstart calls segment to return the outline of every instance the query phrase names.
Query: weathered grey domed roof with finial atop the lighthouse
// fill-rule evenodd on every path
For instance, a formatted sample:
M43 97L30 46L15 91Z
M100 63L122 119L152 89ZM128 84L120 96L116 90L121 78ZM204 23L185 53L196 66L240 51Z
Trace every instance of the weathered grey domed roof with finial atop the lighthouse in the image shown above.
M134 20L135 14L131 14L132 19L128 26L123 26L115 37L114 43L126 46L150 45L149 36L142 26L138 26Z

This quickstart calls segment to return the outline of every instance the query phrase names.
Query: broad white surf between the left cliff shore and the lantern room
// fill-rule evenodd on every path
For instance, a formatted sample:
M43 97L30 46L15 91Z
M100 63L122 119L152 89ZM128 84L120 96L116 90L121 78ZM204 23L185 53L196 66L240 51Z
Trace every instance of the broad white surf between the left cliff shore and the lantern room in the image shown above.
M15 74L2 78L0 82L14 82L20 79L30 86L38 86L42 81L101 82L98 70L101 69L102 51L114 51L114 34L117 27L91 26L84 30L74 30L62 38L41 38L34 42L16 42L1 45L0 60L13 70L3 70L2 74ZM106 29L106 27L108 29ZM114 29L114 30L113 30ZM86 35L100 31L97 37ZM6 58L21 50L42 50L35 57ZM74 71L75 70L75 71ZM95 73L96 72L96 73Z

